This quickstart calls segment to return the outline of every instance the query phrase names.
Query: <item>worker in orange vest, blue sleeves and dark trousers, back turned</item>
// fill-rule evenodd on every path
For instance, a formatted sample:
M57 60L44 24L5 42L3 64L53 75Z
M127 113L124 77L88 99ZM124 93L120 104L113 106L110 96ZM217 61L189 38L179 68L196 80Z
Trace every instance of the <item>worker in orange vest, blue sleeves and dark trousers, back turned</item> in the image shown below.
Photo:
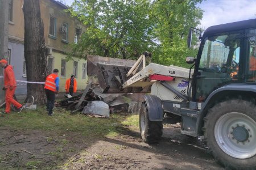
M47 76L46 84L44 84L44 90L46 91L47 98L46 110L48 111L49 116L52 116L52 109L55 102L55 94L59 92L60 78L58 74L59 70L54 69L53 73Z

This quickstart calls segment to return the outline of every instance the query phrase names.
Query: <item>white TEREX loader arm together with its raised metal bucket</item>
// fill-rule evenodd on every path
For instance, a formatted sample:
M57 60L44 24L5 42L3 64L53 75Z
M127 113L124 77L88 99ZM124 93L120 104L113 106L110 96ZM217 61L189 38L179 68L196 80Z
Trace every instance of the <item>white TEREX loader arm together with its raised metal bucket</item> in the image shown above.
M100 56L88 56L88 75L96 76L102 93L148 93L156 80L170 81L176 77L188 78L189 70L177 66L163 66L150 62L142 54L137 61Z

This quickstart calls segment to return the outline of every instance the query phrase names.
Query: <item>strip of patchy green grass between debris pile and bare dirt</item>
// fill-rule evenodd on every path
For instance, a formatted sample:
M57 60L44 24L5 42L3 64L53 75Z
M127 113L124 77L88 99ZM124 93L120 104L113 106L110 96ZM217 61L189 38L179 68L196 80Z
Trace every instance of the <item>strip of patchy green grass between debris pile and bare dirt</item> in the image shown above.
M62 108L56 108L53 112L53 116L48 116L44 106L38 106L34 111L11 112L11 114L5 114L5 117L0 117L0 126L54 131L60 135L71 131L86 137L113 137L125 130L138 130L139 128L138 115L110 114L109 118L95 118L84 114L72 115L70 111ZM63 144L67 142L63 141Z

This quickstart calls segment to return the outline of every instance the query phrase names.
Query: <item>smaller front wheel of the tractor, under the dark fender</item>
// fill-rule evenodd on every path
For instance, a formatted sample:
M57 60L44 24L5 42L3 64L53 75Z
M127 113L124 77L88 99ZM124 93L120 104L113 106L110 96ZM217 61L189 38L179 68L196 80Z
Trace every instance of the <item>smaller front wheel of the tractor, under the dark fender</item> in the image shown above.
M141 137L145 143L157 143L163 134L163 124L161 122L150 121L148 118L147 104L142 103L139 113L139 129Z

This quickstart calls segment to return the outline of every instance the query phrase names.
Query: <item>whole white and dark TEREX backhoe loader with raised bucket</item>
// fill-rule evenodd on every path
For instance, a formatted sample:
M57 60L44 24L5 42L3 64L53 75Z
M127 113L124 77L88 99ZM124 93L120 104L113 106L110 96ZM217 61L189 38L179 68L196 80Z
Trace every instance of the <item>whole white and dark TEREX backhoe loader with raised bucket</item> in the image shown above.
M97 74L102 93L144 93L139 113L141 137L158 142L163 120L179 117L181 133L203 138L226 168L256 168L256 19L214 25L202 32L190 69L88 56L88 73ZM148 63L148 65L146 65ZM91 71L90 71L91 70ZM93 75L93 74L91 74Z

